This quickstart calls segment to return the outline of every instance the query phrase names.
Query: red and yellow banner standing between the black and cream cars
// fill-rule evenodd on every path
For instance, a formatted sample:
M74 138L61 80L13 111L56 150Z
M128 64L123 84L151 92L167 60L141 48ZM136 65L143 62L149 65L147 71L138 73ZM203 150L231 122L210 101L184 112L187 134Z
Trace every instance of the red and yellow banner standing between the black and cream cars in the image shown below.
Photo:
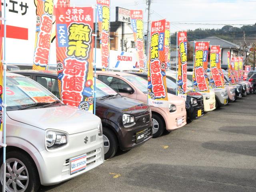
M210 92L207 76L208 49L209 42L195 42L193 90L196 92Z

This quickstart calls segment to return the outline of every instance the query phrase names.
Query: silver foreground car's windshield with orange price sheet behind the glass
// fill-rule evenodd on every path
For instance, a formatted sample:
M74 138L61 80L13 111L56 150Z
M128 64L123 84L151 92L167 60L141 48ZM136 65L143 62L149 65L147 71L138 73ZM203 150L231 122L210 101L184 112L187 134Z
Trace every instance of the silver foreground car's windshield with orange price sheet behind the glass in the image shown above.
M60 100L30 78L23 76L6 77L7 111L56 102L60 102Z

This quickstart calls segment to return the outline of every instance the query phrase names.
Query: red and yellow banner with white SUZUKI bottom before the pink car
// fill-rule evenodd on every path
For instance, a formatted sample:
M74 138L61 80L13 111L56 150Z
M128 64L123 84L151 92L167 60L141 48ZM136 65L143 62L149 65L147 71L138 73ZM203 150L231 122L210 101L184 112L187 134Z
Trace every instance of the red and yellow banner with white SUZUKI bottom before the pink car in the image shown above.
M150 32L148 104L157 107L168 107L164 60L165 22L165 19L153 21Z

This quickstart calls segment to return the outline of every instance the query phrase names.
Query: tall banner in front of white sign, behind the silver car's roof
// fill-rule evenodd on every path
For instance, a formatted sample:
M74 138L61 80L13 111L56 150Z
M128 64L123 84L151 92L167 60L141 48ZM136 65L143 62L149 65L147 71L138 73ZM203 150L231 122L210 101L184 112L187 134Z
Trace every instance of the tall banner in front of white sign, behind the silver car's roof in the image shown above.
M53 0L37 0L33 70L45 70L49 62Z

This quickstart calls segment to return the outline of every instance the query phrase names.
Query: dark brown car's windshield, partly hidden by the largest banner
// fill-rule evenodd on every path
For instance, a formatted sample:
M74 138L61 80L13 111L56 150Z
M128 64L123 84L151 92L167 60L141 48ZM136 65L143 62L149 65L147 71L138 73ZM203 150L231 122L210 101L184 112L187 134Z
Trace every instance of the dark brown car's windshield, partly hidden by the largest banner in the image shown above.
M116 96L118 93L112 88L96 79L96 99L101 99L107 96Z

